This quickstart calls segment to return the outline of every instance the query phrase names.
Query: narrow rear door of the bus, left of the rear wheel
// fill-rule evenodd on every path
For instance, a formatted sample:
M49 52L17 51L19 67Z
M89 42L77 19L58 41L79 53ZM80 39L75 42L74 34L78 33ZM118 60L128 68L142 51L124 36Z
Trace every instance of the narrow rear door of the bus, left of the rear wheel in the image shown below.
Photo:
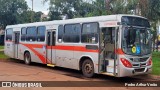
M20 32L14 32L14 58L19 58L19 37L20 37Z

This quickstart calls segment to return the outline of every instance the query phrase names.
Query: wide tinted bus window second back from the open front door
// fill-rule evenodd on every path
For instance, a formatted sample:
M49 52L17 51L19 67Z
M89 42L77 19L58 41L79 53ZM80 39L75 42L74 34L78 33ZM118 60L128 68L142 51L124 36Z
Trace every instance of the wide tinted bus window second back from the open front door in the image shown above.
M73 43L80 42L80 32L81 32L80 24L65 25L63 41L73 42Z

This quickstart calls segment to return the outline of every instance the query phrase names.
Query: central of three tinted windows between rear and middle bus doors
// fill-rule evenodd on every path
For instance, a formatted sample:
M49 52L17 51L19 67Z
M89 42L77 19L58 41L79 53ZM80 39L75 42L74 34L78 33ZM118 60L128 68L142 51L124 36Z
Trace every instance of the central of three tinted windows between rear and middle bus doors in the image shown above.
M27 41L36 41L37 31L36 27L28 27L27 28Z

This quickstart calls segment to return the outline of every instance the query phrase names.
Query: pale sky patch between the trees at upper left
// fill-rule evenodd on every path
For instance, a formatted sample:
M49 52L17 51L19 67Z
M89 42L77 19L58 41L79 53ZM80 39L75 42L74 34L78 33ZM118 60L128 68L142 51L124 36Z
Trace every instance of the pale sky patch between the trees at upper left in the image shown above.
M32 7L32 0L25 0L28 4L28 6ZM38 12L41 11L44 14L47 14L49 12L49 3L43 4L43 0L33 0L33 10Z

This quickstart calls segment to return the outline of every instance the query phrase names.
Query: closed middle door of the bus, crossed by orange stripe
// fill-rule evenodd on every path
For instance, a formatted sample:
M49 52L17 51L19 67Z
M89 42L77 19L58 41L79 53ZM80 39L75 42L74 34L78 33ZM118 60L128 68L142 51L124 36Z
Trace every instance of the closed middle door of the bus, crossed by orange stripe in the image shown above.
M55 30L48 30L47 31L47 46L46 46L46 64L55 64L55 39L56 38L56 32Z

